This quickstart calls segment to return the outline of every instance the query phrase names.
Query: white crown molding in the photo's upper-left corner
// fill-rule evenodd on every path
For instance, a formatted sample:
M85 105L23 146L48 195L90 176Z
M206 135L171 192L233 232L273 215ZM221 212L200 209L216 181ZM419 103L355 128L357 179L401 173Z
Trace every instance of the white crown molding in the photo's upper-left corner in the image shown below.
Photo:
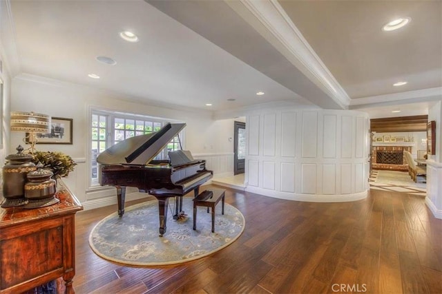
M3 54L3 63L8 67L11 76L16 76L21 72L17 44L15 43L15 25L12 17L10 0L0 3L0 52Z

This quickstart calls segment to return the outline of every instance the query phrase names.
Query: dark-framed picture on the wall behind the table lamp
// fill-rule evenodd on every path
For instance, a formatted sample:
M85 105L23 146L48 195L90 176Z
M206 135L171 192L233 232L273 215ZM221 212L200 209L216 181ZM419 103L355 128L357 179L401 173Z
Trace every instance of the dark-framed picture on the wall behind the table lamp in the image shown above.
M72 144L73 143L73 119L50 118L50 133L37 134L36 144ZM28 143L29 134L26 134Z

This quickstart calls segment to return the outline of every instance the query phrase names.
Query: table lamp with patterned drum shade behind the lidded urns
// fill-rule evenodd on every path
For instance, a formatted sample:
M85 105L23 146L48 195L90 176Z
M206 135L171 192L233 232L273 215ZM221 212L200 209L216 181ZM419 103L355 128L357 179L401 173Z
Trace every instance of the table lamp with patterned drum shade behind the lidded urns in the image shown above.
M30 143L30 154L34 154L37 134L50 133L50 116L35 112L11 112L11 131L26 132L23 141Z

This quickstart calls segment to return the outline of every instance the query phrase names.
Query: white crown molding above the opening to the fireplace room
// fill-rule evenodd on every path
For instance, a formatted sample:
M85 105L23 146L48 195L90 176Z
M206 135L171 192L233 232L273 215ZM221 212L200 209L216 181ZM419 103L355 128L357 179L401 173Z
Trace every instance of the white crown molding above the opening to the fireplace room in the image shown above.
M350 101L349 108L358 109L370 106L392 105L392 103L397 104L440 101L441 99L442 87L434 87L423 90L356 98Z

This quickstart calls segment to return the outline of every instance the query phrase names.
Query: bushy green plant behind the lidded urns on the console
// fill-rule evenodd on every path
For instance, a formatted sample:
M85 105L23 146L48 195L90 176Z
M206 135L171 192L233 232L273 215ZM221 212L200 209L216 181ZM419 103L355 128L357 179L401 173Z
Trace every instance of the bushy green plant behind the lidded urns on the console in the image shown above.
M50 169L54 173L55 178L68 176L70 171L73 171L75 165L77 165L70 156L59 151L35 151L32 156L32 162L35 165L41 162L45 169Z

